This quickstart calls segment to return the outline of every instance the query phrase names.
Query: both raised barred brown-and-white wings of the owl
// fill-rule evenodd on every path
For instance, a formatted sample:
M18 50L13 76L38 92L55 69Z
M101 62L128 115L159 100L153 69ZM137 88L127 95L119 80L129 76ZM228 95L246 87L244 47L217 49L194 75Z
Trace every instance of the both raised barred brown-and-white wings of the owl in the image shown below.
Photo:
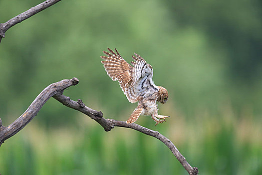
M127 99L134 103L141 98L141 94L148 88L154 88L158 90L158 87L153 83L153 69L152 66L146 63L140 55L136 54L136 57L132 55L132 67L127 63L122 56L115 49L116 53L108 48L110 51L103 51L107 56L101 56L101 61L104 64L107 74L112 80L118 80L122 91L126 95Z

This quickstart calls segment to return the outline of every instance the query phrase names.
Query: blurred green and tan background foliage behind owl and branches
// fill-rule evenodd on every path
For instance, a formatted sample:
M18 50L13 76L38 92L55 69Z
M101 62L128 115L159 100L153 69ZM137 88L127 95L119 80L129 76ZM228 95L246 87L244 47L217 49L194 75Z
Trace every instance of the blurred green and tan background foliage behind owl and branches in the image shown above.
M0 22L41 0L1 0ZM11 27L0 43L0 117L20 116L52 82L65 95L126 120L136 104L106 74L102 50L142 55L169 91L154 125L200 174L262 172L261 0L62 0ZM49 99L0 147L1 174L187 174L159 140L127 128L105 132Z

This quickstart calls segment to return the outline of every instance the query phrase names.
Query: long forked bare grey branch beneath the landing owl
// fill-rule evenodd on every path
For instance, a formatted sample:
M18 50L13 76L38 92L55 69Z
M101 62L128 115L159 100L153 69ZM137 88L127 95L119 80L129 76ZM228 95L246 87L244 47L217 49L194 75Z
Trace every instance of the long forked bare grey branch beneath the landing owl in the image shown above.
M0 145L7 138L11 137L19 130L21 130L31 119L38 113L43 104L52 96L62 104L67 107L74 108L97 121L101 126L103 126L105 131L110 131L114 126L127 127L138 130L147 135L156 137L173 152L182 166L188 171L190 175L198 174L198 168L192 167L186 160L186 158L179 152L177 147L166 138L164 135L158 131L148 129L146 127L140 126L135 123L127 124L125 121L118 121L115 119L105 119L101 111L97 111L87 107L81 99L74 101L70 97L63 95L63 90L69 86L78 84L79 80L77 78L64 79L59 82L52 83L48 85L42 92L34 99L30 106L25 110L25 112L18 117L13 123L8 126L3 126L0 120Z

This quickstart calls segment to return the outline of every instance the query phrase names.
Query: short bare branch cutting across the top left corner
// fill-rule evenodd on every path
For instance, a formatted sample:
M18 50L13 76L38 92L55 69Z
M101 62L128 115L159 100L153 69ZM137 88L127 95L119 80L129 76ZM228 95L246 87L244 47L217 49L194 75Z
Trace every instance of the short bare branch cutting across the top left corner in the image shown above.
M5 31L8 30L10 27L44 10L45 8L48 8L49 6L55 4L58 1L60 0L45 0L44 2L34 7L31 7L27 11L24 11L21 14L18 14L17 16L9 19L5 23L0 23L0 42L1 42L2 37L5 36Z

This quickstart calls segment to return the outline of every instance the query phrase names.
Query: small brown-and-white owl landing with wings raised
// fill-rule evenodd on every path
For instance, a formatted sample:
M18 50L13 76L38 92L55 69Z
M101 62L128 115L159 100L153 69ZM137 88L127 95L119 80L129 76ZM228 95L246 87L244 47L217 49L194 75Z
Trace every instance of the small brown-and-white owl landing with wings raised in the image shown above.
M168 92L166 88L154 84L152 66L136 53L136 56L132 55L135 60L131 62L132 66L122 58L116 48L116 53L110 48L108 50L110 53L103 51L107 56L101 56L107 74L112 80L118 80L129 102L138 101L138 106L126 122L133 123L140 115L150 115L156 121L155 125L166 121L165 118L169 116L158 114L156 102L166 103Z

